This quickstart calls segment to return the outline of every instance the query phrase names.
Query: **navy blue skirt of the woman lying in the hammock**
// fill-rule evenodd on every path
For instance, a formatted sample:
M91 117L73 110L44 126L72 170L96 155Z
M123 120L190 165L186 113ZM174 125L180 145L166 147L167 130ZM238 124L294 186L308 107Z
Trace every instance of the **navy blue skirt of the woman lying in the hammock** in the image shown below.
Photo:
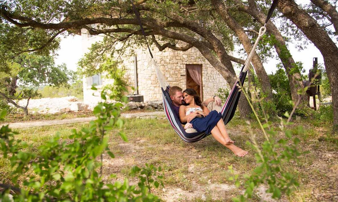
M191 120L192 127L198 132L210 134L211 130L217 125L217 122L222 119L221 113L216 110L210 111L206 117L196 117Z

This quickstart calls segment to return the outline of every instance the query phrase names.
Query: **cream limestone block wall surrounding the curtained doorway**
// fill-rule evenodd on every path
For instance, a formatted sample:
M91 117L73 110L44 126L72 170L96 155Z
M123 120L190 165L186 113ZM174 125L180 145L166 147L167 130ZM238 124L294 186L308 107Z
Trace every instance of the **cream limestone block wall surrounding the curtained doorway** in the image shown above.
M95 37L95 36L94 36ZM91 41L84 40L83 43L91 43ZM184 45L184 44L183 44ZM85 45L82 50L85 51ZM130 47L134 50L137 60L138 72L138 93L144 96L144 101L162 100L162 92L160 84L157 79L155 71L152 69L151 57L147 49ZM203 83L203 98L207 99L215 95L219 88L227 88L228 85L225 79L210 65L210 63L201 55L196 48L191 48L188 51L174 51L165 49L160 52L156 47L152 47L152 53L156 59L164 77L171 86L177 85L186 89L186 65L198 64L202 66L202 83ZM123 66L126 68L126 80L130 86L134 86L134 60L135 56L122 56ZM103 80L103 85L108 82ZM83 84L83 100L98 101L100 97L92 94L99 94L93 92L90 87ZM98 86L100 87L100 86ZM131 88L128 88L129 94L132 93Z

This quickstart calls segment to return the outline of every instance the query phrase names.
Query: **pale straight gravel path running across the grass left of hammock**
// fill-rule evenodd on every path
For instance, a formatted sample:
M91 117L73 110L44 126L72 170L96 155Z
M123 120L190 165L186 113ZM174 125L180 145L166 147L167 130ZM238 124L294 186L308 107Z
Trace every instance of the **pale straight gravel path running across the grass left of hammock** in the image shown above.
M123 118L156 118L158 116L163 117L164 111L154 112L143 112L143 113L123 113ZM50 126L50 125L61 125L61 124L72 124L72 123L88 123L95 120L95 117L84 117L74 119L62 119L62 120L50 120L50 121L32 121L32 122L18 122L8 124L10 128L28 128L28 127L39 127L39 126ZM0 124L0 127L5 124Z

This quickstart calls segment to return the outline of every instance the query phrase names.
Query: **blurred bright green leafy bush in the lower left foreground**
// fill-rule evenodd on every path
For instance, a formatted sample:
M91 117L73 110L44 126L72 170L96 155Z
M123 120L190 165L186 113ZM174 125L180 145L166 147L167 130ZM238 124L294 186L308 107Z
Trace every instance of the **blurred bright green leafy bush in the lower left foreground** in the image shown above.
M107 99L105 92L101 98ZM120 107L121 103L99 103L93 111L97 120L90 122L89 128L73 129L68 141L56 134L37 151L16 140L17 132L8 125L1 127L1 153L13 169L13 186L1 184L1 200L10 201L13 196L15 201L159 201L150 191L163 185L160 167L133 167L132 175L140 179L137 185L130 185L127 178L120 182L116 175L109 179L114 183L103 181L103 154L114 158L107 132L124 124L119 118ZM1 119L5 113L1 112ZM118 134L127 141L122 131Z

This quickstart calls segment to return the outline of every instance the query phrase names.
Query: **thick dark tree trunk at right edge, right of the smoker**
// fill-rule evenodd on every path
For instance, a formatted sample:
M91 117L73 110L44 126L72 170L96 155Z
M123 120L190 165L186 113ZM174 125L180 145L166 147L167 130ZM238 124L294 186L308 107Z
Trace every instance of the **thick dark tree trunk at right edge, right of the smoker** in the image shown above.
M338 48L318 23L292 0L279 0L277 7L319 49L330 81L333 103L333 129L338 130Z

